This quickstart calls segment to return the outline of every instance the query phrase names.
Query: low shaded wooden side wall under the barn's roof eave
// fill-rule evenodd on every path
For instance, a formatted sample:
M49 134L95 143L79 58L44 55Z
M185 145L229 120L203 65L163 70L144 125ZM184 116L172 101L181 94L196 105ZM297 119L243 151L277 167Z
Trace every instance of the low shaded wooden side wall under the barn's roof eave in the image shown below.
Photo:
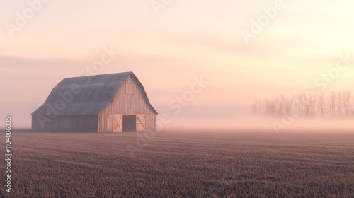
M33 115L32 129L51 132L98 132L98 115L56 115L52 119Z

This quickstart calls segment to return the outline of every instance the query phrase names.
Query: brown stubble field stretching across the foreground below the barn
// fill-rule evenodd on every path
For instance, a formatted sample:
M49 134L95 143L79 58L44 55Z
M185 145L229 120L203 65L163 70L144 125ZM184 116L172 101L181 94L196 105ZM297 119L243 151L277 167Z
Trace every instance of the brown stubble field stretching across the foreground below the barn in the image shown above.
M140 135L13 132L13 188L0 196L354 197L353 134Z

